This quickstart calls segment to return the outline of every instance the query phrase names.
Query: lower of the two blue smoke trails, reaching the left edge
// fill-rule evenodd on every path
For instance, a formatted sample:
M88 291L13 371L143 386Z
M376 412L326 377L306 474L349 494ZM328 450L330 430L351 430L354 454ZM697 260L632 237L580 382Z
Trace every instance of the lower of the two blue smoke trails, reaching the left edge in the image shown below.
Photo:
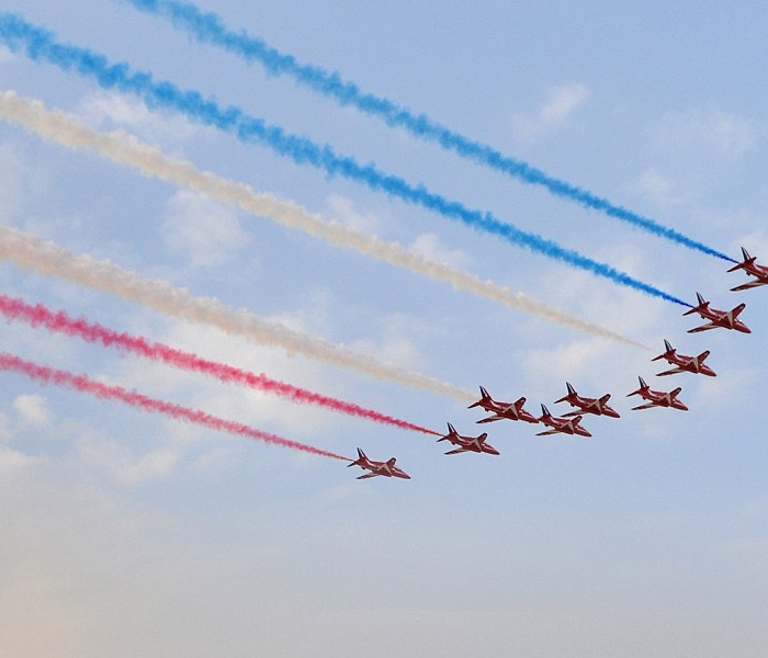
M483 213L429 192L423 185L414 186L406 180L379 171L373 164L362 166L351 157L341 157L330 146L319 146L305 137L286 134L280 126L269 126L262 120L247 115L239 107L219 107L197 91L184 91L171 82L156 82L150 73L131 72L127 64L110 65L106 57L84 48L55 41L52 32L35 27L18 14L0 12L0 39L13 52L23 50L34 61L48 61L64 70L75 70L97 80L104 89L131 91L140 95L149 106L169 107L191 120L234 134L246 143L260 143L298 164L310 164L329 175L365 183L408 203L420 205L443 217L459 219L473 228L494 234L507 242L524 246L550 258L586 270L648 295L690 306L647 283L633 279L610 265L594 261L565 249L552 240L505 224L490 213Z

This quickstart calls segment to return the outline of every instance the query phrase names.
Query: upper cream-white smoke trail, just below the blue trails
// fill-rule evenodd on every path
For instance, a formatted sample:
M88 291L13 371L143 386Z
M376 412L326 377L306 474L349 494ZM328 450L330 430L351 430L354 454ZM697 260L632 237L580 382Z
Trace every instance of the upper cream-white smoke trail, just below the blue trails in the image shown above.
M298 228L337 247L353 249L433 281L450 283L455 290L501 303L542 320L647 349L632 339L528 298L522 293L515 293L444 263L427 260L400 245L384 242L339 222L327 222L294 202L258 193L249 185L200 171L192 163L169 158L159 149L123 131L108 134L92 131L71 114L46 110L39 101L19 97L14 91L0 92L0 118L20 124L27 131L64 146L94 151L112 161L134 167L145 175L170 181L217 201L236 205L250 215L268 217L283 226Z

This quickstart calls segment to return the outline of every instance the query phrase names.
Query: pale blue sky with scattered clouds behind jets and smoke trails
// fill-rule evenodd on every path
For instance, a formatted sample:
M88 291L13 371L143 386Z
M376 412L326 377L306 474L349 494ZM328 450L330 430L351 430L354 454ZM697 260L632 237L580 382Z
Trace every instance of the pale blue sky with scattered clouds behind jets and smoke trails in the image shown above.
M633 216L768 263L764 3L206 0L200 9ZM462 434L487 430L500 455L445 456L434 435L3 321L3 352L345 457L357 447L396 456L411 479L357 480L362 472L343 461L0 372L0 653L765 656L768 288L730 292L746 277L726 273L733 263L722 258L340 106L127 0L5 0L0 11L0 23L20 15L61 43L688 304L696 292L715 308L745 302L752 328L689 334L697 318L680 304L105 89L0 37L3 93L92 133L122 129L124 140L297 204L342 232L396 242L626 339L454 290L1 120L3 230L459 394L48 275L7 245L0 294L437 432L447 422ZM711 350L718 376L657 377L663 366L651 359L664 339L684 354ZM637 376L654 389L681 386L689 411L631 410ZM497 399L526 396L537 415L542 402L563 413L569 407L554 400L566 382L586 396L610 393L621 418L585 418L590 439L537 436L542 426L477 426L481 410L466 408L482 385Z

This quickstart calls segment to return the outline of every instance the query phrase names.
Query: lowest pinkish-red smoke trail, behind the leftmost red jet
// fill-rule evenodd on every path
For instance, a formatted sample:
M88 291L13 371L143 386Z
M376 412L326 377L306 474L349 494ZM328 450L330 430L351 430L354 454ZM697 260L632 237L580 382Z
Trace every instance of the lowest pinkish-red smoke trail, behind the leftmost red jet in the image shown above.
M103 400L120 400L121 402L125 402L126 405L142 409L143 411L157 411L159 413L166 413L167 416L170 416L177 420L184 420L187 422L204 426L219 432L228 432L229 434L247 436L248 439L256 439L257 441L263 441L274 445L282 445L283 447L291 447L293 450L301 450L303 452L312 453L314 455L321 455L324 457L331 457L334 460L342 460L345 462L351 461L347 457L342 457L341 455L337 455L336 453L328 452L319 447L314 447L313 445L298 443L297 441L291 441L290 439L283 439L276 434L263 432L231 420L224 420L223 418L211 416L204 411L189 409L188 407L150 398L146 395L142 395L140 393L122 388L121 386L102 384L101 382L89 379L84 375L76 375L67 371L38 365L32 361L25 361L19 356L14 356L13 354L0 353L0 370L20 373L43 384L55 384L56 386L74 388L81 393L90 393L91 395L94 395Z

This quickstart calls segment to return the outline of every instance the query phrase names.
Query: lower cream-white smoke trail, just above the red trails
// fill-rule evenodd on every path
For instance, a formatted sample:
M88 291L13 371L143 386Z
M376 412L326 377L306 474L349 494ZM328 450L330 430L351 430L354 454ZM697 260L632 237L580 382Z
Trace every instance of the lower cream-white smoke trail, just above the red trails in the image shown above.
M212 297L195 297L184 288L167 281L145 279L110 261L98 261L90 256L75 256L54 242L13 228L0 226L0 260L33 270L45 276L60 276L92 290L118 295L123 299L143 304L167 315L194 322L206 322L233 334L269 345L279 345L289 355L298 353L407 386L447 395L460 400L476 396L432 377L413 373L388 363L375 361L343 345L334 344L306 333L294 331L278 322L262 320L245 310L235 310Z

